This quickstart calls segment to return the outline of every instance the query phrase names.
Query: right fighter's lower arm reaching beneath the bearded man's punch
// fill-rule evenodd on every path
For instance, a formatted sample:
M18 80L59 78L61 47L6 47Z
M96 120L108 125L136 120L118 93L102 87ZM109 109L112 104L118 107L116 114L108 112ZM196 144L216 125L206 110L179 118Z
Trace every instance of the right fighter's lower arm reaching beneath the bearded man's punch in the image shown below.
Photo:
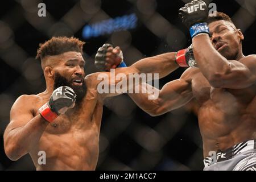
M142 110L152 116L161 115L177 109L187 104L193 98L190 69L191 68L188 68L179 79L168 82L161 90L148 84L140 84L137 85L137 87L147 90L147 93L140 92L129 94L129 96ZM146 89L147 86L149 86L150 89ZM153 89L154 92L150 91ZM155 94L156 92L159 92L159 95ZM151 100L148 99L149 96L151 96ZM155 99L152 100L154 97Z

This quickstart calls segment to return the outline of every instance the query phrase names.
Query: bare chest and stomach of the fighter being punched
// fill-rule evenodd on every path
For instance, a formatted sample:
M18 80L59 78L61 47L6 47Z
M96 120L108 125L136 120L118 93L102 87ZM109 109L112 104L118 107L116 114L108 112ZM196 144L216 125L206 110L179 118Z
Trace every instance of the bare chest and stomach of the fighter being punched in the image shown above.
M256 138L255 84L244 89L214 88L200 71L191 77L204 156Z

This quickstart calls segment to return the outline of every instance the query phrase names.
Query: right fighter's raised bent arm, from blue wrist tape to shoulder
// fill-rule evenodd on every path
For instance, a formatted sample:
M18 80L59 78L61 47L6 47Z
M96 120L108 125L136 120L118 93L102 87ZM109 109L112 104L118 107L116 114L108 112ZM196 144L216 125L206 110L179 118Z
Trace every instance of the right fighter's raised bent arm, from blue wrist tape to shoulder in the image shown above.
M256 83L255 55L227 60L203 34L193 38L193 52L197 66L213 87L241 89Z

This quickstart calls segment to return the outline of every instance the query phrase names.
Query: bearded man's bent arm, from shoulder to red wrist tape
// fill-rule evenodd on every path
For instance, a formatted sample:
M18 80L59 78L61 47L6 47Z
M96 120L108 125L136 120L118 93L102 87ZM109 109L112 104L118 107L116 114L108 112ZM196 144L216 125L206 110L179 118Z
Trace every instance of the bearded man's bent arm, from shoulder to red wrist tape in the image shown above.
M31 96L16 100L10 113L10 123L3 135L6 155L18 160L39 142L48 122L40 115L34 117L31 110Z

